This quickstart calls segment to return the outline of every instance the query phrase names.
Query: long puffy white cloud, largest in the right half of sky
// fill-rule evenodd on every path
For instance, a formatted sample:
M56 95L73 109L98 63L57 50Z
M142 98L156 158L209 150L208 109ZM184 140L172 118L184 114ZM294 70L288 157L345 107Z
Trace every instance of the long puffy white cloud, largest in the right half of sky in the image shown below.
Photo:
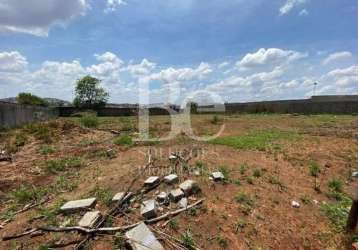
M307 54L293 50L261 48L255 53L248 53L241 61L237 62L236 65L243 68L255 68L264 65L283 65L307 56Z

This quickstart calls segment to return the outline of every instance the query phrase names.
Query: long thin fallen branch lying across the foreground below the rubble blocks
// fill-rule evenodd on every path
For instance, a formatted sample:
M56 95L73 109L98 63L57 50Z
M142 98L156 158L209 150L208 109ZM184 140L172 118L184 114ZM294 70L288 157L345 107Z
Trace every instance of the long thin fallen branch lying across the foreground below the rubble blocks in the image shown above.
M75 226L75 227L38 227L38 228L34 228L31 229L29 231L26 231L22 234L18 234L18 235L14 235L14 236L5 236L3 237L3 241L7 241L7 240L11 240L11 239L16 239L16 238L20 238L32 233L35 233L37 231L44 231L44 232L78 232L78 233L83 233L83 234L96 234L96 233L115 233L115 232L123 232L123 231L127 231L129 229L132 229L136 226L138 226L140 223L144 222L146 224L153 224L156 223L158 221L167 219L167 218L172 218L188 209L191 209L195 206L198 206L199 204L201 204L205 199L199 200L195 203L193 203L190 206L187 206L186 208L182 208L182 209L178 209L176 211L173 212L168 212L162 216L159 216L157 218L153 218L150 220L145 220L145 221L139 221L137 223L128 225L128 226L122 226L122 227L102 227L102 228L85 228L85 227L79 227L79 226Z

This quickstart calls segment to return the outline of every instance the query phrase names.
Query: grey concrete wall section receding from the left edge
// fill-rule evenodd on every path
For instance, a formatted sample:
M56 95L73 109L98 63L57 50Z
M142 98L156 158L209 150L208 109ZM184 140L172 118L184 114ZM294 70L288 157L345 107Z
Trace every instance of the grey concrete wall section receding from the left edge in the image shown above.
M48 120L58 116L57 108L0 102L0 127L20 127L30 122Z

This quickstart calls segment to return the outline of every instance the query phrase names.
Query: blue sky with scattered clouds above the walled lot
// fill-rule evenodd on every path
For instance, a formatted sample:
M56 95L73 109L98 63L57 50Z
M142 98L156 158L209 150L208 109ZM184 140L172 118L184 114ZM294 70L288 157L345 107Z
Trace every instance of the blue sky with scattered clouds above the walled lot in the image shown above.
M357 25L358 0L0 0L0 98L87 74L119 103L358 94Z

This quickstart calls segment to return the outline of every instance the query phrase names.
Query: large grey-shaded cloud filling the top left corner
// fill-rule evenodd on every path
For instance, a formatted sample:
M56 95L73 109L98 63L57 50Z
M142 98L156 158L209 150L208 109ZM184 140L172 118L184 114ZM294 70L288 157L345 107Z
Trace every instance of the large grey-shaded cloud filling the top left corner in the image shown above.
M51 27L83 15L87 0L2 0L0 32L47 36Z

